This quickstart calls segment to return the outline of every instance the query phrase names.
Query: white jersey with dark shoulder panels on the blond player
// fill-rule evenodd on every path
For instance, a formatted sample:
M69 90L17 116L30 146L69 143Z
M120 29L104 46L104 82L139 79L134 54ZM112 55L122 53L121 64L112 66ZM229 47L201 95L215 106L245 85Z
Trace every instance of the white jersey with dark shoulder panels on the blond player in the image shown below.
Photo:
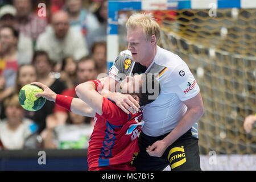
M129 75L135 69L134 65L130 51L123 51L110 68L109 76L121 81L119 73ZM159 74L161 92L154 102L143 108L142 131L157 137L170 133L176 127L187 111L182 101L195 97L200 89L187 64L179 56L159 46L154 61L145 73ZM197 123L192 127L192 135L198 137Z

